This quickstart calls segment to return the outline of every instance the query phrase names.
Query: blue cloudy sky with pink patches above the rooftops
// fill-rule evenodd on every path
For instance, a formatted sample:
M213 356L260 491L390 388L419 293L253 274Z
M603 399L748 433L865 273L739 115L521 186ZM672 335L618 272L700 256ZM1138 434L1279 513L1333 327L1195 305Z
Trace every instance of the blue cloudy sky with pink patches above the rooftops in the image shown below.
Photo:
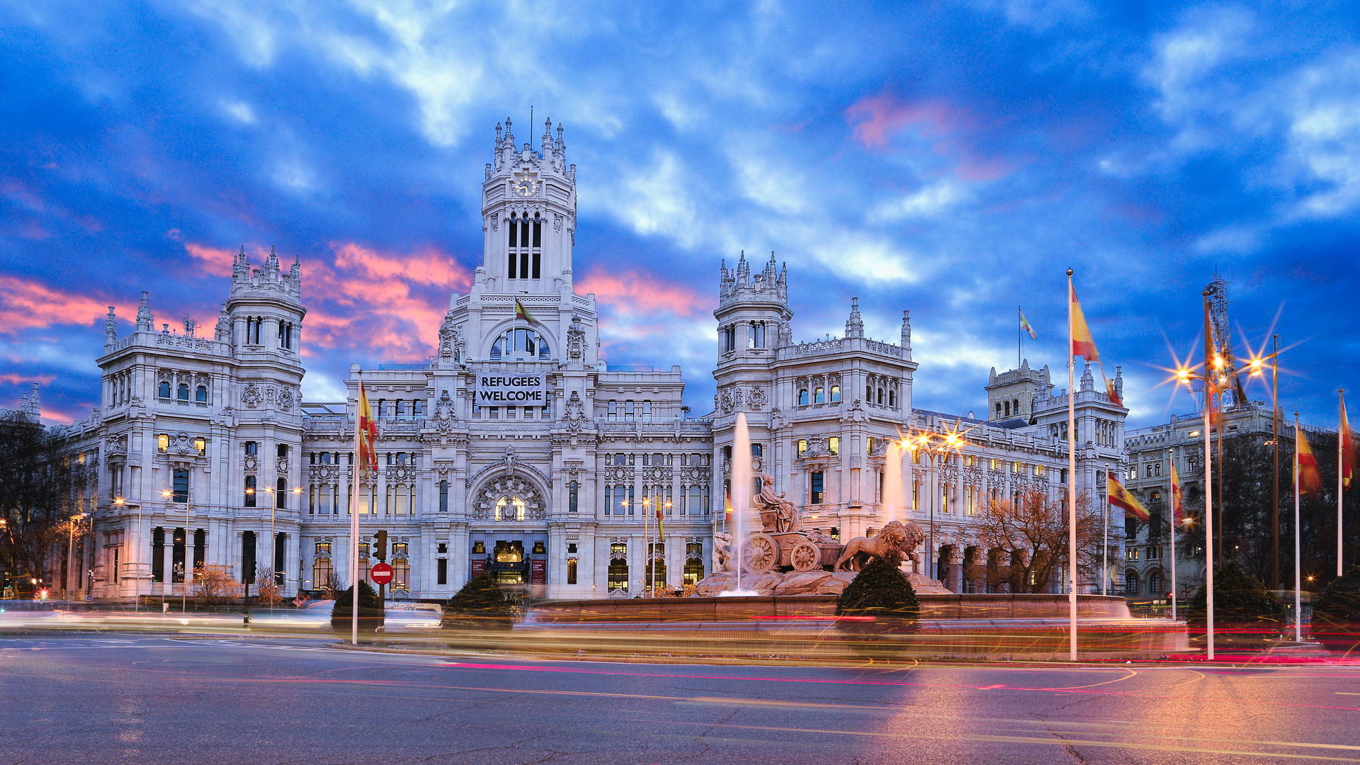
M1156 10L1152 10L1156 8ZM1231 282L1234 343L1336 425L1360 388L1360 15L1348 3L0 3L0 407L98 403L103 314L209 328L230 256L302 260L309 399L419 362L481 257L494 127L566 125L577 291L611 363L711 408L718 263L789 265L794 338L894 340L918 407L1061 374L1064 271L1130 426ZM1266 397L1265 388L1253 393ZM1360 400L1360 399L1357 399ZM1356 404L1360 406L1360 404Z

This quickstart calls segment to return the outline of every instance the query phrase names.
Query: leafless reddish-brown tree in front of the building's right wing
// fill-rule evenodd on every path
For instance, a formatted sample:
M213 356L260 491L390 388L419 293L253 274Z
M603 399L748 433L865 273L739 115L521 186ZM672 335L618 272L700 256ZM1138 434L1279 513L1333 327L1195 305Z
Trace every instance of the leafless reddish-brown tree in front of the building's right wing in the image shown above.
M986 550L1000 550L978 573L993 587L1010 592L1047 592L1068 559L1068 497L1021 491L1019 501L990 502L976 521ZM1085 491L1077 495L1077 572L1085 581L1100 580L1100 513Z

